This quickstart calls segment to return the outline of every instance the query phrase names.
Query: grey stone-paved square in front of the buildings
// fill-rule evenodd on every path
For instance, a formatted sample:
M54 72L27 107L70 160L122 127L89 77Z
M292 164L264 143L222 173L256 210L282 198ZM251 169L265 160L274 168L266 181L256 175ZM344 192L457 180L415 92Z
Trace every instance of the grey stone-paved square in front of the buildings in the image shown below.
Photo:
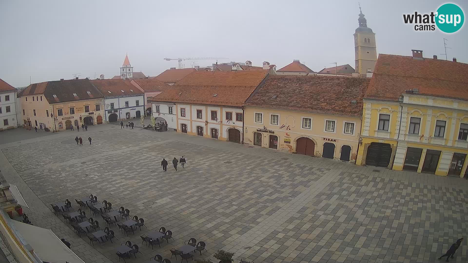
M117 262L120 243L140 245L139 235L161 226L175 240L153 250L140 246L143 255L131 262L170 257L169 248L191 237L207 243L208 251L196 259L223 248L255 263L438 262L467 233L464 179L358 167L174 132L97 127L88 133L92 146L83 135L84 145L77 146L75 133L0 145L22 177L7 180L19 181L26 193L29 219L66 237L85 262ZM182 155L188 161L184 169L169 165L162 171L162 158L170 164ZM117 244L92 248L49 209L90 193L130 209L147 228L127 238L112 226ZM466 261L465 243L452 262Z

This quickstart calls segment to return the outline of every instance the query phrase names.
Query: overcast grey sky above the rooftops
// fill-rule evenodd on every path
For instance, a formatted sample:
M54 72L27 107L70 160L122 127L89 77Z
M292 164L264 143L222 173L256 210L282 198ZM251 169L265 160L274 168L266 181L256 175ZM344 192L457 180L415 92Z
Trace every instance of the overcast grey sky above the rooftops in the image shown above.
M468 2L452 1L468 15ZM360 0L377 52L445 56L468 63L468 28L417 32L402 14L435 11L445 1ZM0 78L14 87L47 80L119 74L125 53L134 72L155 76L177 61L219 57L277 69L300 59L314 71L354 66L358 1L6 1L0 3ZM466 23L466 22L465 22ZM197 60L210 66L216 60ZM192 61L184 61L191 67Z

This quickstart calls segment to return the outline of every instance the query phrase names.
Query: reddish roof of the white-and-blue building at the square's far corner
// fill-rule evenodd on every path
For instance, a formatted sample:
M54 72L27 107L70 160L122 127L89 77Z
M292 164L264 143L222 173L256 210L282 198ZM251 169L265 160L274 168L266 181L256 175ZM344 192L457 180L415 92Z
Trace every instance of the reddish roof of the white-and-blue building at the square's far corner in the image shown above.
M141 90L130 83L130 80L91 80L91 83L99 89L104 97L143 94Z

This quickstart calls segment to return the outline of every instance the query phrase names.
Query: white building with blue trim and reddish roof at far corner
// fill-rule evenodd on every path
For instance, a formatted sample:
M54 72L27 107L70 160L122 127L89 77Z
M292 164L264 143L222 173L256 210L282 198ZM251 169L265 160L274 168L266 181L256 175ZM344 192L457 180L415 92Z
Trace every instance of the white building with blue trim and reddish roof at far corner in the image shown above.
M144 91L135 87L130 80L91 80L91 83L104 96L105 121L131 121L139 122L145 112ZM135 123L135 120L132 120Z

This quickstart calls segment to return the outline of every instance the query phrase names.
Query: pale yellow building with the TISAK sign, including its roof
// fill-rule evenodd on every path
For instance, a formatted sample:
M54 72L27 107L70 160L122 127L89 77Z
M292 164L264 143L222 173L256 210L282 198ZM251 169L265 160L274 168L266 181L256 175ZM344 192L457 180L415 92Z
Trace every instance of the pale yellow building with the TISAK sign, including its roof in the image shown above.
M245 103L244 143L354 163L369 80L269 76Z

